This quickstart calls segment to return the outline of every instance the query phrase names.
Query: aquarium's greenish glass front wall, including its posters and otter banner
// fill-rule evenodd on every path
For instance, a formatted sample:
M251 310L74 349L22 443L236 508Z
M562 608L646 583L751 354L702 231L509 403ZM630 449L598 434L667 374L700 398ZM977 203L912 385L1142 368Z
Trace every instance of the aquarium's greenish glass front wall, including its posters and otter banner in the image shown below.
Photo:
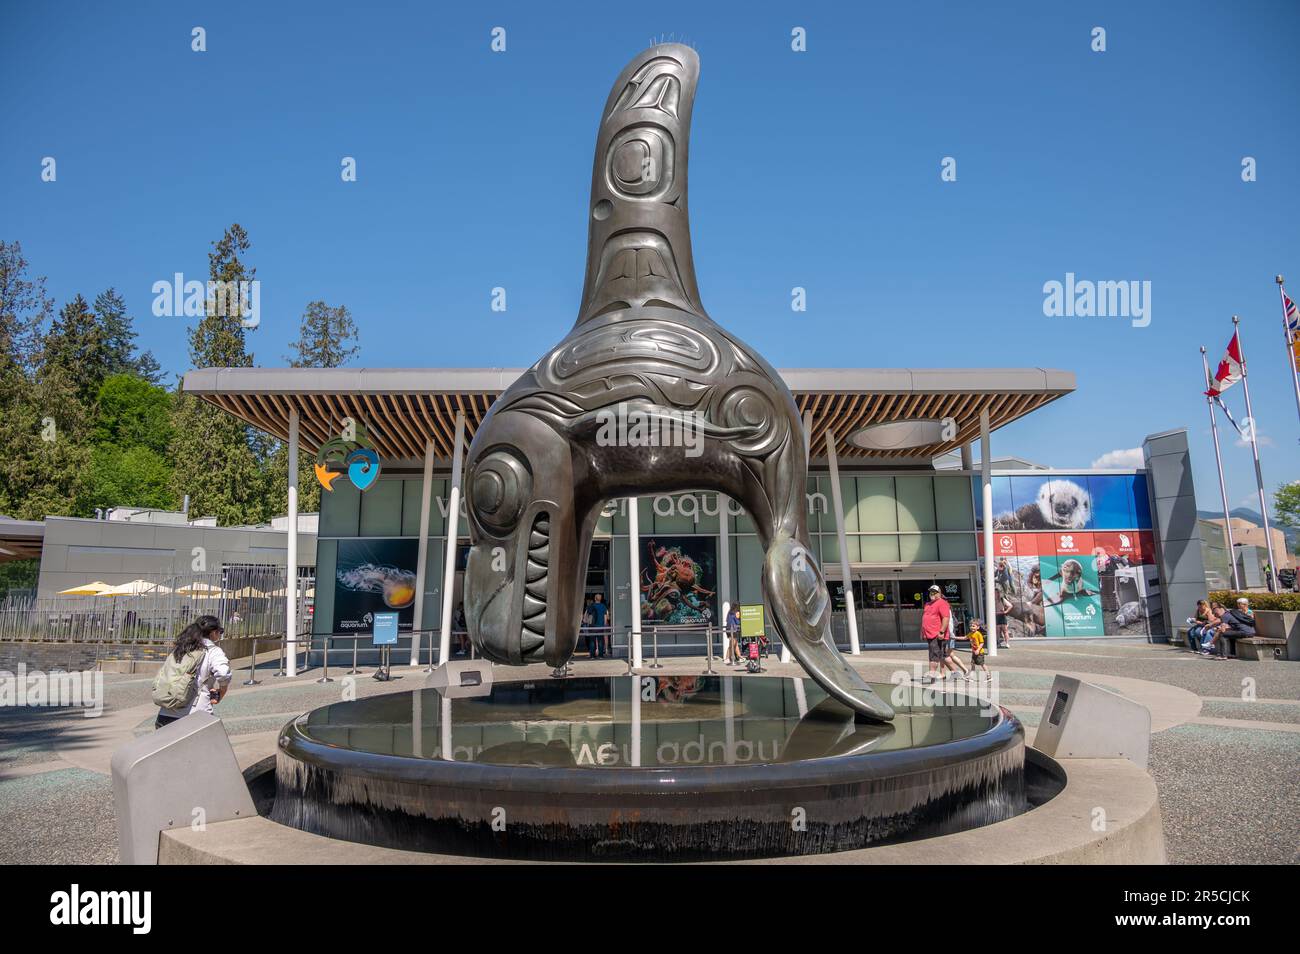
M424 628L441 625L448 481L446 474L433 481L426 569L424 580L416 581L416 546L411 543L417 543L420 529L420 483L419 472L385 473L365 493L339 481L334 491L321 495L316 634L355 632L361 625L358 620L365 619L367 600L377 611L404 610L403 629L410 629L411 604L395 604L407 594L413 599L415 586L424 590ZM980 612L978 478L944 472L841 472L840 491L864 645L916 642L930 582L944 586L962 624ZM1076 528L1030 528L1034 511L1056 512L1057 506L1062 513L1076 508L1069 517ZM664 625L716 623L724 597L732 603L762 602L763 552L753 521L734 500L725 515L712 493L642 496L638 507L641 582L650 604L645 619ZM997 476L993 513L998 620L1009 630L1019 626L1013 634L1162 632L1154 619L1158 580L1145 474ZM719 552L724 519L727 559ZM842 611L828 473L809 476L807 521L835 608ZM463 502L459 526L463 568L468 545ZM724 564L725 584L720 580ZM680 586L682 573L686 586ZM597 524L586 580L588 594L603 594L615 629L630 619L629 576L628 500L618 499L606 506ZM666 584L670 577L672 585ZM459 590L459 573L455 580ZM454 594L452 606L459 595ZM842 612L836 634L848 642Z

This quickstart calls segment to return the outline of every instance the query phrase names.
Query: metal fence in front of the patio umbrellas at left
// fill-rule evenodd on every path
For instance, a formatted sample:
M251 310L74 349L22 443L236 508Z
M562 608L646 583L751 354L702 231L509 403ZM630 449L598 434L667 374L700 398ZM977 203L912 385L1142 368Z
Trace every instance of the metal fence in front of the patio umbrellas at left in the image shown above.
M58 642L166 642L198 616L220 619L226 637L278 636L285 632L283 567L251 564L208 573L142 577L140 593L60 595L0 600L0 639ZM300 568L299 619L313 603L313 577Z

